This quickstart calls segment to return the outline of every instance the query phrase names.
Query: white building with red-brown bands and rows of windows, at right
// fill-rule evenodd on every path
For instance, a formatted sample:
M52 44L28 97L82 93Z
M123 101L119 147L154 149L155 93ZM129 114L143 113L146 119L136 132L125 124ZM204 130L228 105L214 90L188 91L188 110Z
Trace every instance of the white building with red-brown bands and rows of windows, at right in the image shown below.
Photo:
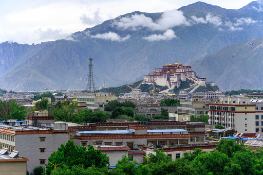
M244 136L255 137L255 106L249 98L224 97L218 104L209 104L208 124L234 129Z

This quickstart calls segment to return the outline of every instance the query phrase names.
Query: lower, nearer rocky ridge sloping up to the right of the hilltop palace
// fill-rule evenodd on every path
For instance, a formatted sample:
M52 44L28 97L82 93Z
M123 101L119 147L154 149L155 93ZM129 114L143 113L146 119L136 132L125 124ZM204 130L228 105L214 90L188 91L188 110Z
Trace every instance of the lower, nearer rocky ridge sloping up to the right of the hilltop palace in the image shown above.
M227 46L192 63L199 76L223 90L263 87L263 38Z

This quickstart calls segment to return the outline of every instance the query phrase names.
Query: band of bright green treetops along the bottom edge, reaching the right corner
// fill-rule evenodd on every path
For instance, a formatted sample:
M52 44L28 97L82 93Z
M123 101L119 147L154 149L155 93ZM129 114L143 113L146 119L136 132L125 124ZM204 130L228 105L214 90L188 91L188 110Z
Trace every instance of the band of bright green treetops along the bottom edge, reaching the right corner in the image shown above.
M67 151L68 155L74 153L71 150ZM73 154L74 157L76 155ZM65 162L64 157L62 154L57 161ZM174 160L164 154L163 150L157 149L155 155L148 154L141 164L131 161L131 157L123 156L112 170L93 163L89 163L87 168L83 165L85 161L78 163L79 159L82 158L76 161L72 159L70 166L59 166L56 171L52 171L52 175L262 175L263 173L263 149L254 152L250 148L244 148L243 144L235 143L234 140L221 140L213 152L204 152L197 148L194 154L186 152L184 157Z

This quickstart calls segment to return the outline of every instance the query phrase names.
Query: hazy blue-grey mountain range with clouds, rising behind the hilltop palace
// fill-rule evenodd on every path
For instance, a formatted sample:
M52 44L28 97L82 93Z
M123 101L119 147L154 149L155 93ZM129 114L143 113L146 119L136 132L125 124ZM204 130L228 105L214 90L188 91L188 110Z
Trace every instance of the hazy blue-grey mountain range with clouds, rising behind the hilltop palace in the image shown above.
M0 88L85 89L90 57L96 86L135 82L177 62L224 90L262 88L262 37L260 0L238 10L196 2L163 13L136 11L67 39L1 43Z

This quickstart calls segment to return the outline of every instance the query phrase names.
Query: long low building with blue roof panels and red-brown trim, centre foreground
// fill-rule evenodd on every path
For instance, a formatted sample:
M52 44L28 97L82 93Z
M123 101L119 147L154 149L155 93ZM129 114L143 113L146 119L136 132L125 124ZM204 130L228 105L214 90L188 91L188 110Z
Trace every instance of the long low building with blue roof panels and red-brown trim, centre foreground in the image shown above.
M115 131L77 131L74 143L88 145L125 145L143 148L149 144L174 145L188 144L190 136L184 129L148 130L146 125L129 125L128 130Z

